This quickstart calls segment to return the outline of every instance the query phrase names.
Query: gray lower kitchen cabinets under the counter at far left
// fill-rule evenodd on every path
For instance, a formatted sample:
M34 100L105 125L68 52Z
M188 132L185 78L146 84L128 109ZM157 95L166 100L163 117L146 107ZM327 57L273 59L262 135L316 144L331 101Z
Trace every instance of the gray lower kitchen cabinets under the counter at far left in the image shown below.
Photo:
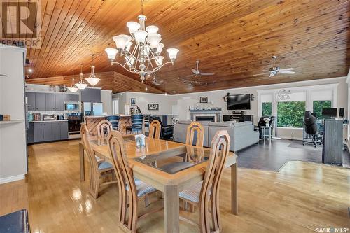
M33 122L34 143L68 139L68 121Z

